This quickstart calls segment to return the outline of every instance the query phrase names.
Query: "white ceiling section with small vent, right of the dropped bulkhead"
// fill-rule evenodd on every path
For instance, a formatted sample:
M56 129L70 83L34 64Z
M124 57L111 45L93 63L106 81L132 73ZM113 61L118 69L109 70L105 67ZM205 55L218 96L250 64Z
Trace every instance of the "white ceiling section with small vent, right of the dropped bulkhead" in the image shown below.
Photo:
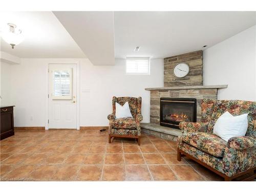
M115 12L114 18L116 58L164 58L196 51L255 25L255 12L132 11Z

